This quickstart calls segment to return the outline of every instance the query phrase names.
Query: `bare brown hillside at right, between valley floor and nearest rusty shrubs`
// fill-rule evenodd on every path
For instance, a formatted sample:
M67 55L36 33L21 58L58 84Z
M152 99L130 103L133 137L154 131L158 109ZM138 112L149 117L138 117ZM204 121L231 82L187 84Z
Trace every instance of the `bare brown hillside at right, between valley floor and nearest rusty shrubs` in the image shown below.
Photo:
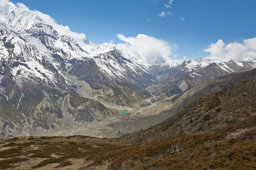
M256 116L255 84L256 78L252 78L220 92L204 95L163 123L124 135L119 141L131 144L147 143L253 120Z

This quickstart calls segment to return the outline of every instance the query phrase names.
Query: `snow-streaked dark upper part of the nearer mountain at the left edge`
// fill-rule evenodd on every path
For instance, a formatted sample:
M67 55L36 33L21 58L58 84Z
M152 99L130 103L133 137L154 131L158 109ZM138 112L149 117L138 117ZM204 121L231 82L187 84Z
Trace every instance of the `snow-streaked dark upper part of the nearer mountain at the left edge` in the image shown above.
M10 81L8 76L11 76L16 82L28 80L32 84L58 87L58 72L41 53L1 21L0 26L0 72L5 75L2 82Z

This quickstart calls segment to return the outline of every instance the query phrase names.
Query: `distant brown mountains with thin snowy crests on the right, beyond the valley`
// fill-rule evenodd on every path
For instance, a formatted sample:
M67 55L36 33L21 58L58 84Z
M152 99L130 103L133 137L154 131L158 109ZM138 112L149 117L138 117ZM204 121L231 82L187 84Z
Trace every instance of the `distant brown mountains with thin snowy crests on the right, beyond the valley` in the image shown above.
M200 61L200 63L198 62ZM155 74L160 83L149 86L147 91L153 95L171 97L181 94L212 78L228 75L234 72L244 72L255 67L246 61L212 62L212 60L198 60L196 62L185 60L182 64L163 70ZM203 64L201 64L203 63Z

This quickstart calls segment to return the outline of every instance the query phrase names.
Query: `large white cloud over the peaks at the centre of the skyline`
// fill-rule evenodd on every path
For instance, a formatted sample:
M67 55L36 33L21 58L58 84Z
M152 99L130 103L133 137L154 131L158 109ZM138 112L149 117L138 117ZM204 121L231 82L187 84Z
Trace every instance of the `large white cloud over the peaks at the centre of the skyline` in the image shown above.
M117 37L125 42L117 44L117 49L130 49L131 51L139 54L150 52L151 54L161 54L164 57L169 57L172 55L171 50L178 47L177 45L171 46L164 40L144 34L139 34L137 37L125 37L122 34L118 34Z

